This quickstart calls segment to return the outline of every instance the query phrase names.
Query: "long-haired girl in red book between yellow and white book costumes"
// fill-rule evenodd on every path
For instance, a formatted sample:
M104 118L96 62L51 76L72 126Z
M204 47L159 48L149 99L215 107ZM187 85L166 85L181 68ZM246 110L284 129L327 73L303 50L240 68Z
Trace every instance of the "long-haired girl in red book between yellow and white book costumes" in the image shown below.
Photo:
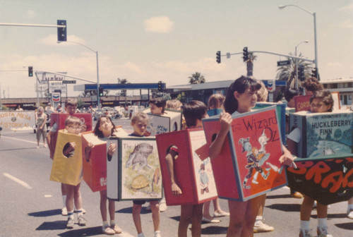
M111 116L100 116L98 119L95 129L93 130L95 135L100 138L100 140L107 141L111 136L116 134L115 125L112 121ZM95 159L95 157L90 157L90 151L94 145L88 142L87 147L85 147L85 157L86 159ZM112 156L116 151L116 144L110 143L108 147L107 155ZM106 187L107 188L107 187ZM107 201L109 209L110 222L107 221ZM103 225L102 232L107 235L114 235L115 233L121 233L119 226L115 224L115 201L107 199L107 189L100 191L100 214L102 215Z

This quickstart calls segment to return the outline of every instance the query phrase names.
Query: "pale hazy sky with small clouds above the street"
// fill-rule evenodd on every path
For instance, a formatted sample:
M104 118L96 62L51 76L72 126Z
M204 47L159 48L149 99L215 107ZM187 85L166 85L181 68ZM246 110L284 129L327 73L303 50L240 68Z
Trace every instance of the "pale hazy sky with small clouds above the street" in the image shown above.
M308 39L298 52L314 59L313 16L295 7L278 8L286 4L316 13L322 80L353 77L352 0L0 0L0 23L66 20L68 41L99 52L100 83L126 78L131 83L162 80L168 86L188 83L196 71L206 82L246 74L240 55L222 57L217 64L218 50L237 53L248 47L289 54ZM78 44L57 44L55 28L0 25L0 42L1 98L35 97L35 80L24 66L97 78L95 54ZM275 79L277 61L285 58L256 55L255 78ZM68 87L69 96L78 95Z

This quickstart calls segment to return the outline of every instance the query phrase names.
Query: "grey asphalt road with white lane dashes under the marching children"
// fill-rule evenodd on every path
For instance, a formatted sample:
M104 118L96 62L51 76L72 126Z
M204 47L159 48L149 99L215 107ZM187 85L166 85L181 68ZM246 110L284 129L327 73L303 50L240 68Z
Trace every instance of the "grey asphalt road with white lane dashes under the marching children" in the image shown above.
M131 131L129 120L114 121ZM0 138L0 236L104 236L101 232L100 195L92 193L83 181L81 193L87 211L87 226L75 225L66 229L66 217L61 216L60 184L49 181L52 160L49 150L36 149L34 133L2 133ZM228 210L227 200L220 205ZM255 236L298 236L301 200L289 197L288 188L268 194L265 205L265 223L275 226L270 233ZM147 205L145 205L146 207ZM132 202L116 202L116 224L123 233L116 236L137 236L131 217ZM352 236L353 222L345 215L347 202L331 205L328 209L328 229L333 236ZM211 212L213 205L211 205ZM177 236L180 207L168 207L161 213L162 236ZM316 232L316 211L311 215L311 229ZM203 224L203 236L225 236L228 218L220 224ZM152 217L142 210L145 236L153 236ZM76 220L77 222L77 220ZM189 232L191 236L191 232Z

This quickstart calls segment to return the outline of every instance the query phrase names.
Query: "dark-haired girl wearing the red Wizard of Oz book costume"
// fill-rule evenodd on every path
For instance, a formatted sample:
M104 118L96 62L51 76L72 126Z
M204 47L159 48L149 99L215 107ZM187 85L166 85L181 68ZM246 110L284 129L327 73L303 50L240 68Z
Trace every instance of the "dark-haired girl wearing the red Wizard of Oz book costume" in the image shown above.
M225 99L225 113L220 115L221 129L217 137L210 145L210 159L215 159L222 151L223 143L232 123L231 114L242 114L251 111L258 99L256 91L261 85L254 79L241 76L229 86ZM291 165L294 158L292 154L282 145L283 154L280 162ZM222 159L222 158L218 158ZM234 187L235 188L235 187ZM258 213L258 197L245 202L228 200L229 205L229 227L227 236L253 236L253 226Z

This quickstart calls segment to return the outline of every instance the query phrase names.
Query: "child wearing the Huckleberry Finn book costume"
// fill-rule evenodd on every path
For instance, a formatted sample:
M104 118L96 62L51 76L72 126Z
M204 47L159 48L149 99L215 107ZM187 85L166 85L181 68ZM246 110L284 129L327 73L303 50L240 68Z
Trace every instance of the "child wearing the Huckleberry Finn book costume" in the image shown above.
M333 110L333 97L328 90L318 90L313 92L310 98L311 113L325 113ZM288 149L292 154L297 155L298 142L301 140L300 128L294 128L287 136ZM304 195L303 203L300 208L300 230L299 237L310 237L309 221L311 216L311 209L313 209L314 200ZM317 233L320 237L332 237L328 234L327 216L328 205L322 205L317 202L316 210L318 212L318 228Z

